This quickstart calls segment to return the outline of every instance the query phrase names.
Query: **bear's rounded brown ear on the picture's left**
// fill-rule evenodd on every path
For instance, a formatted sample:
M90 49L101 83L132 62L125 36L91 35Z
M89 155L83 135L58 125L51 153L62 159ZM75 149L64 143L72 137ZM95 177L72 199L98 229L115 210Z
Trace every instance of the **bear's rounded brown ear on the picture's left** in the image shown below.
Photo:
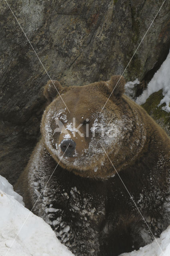
M54 98L56 98L56 96L60 94L62 89L63 87L58 81L49 80L47 84L44 86L44 96L46 97L48 102L51 103L54 100Z

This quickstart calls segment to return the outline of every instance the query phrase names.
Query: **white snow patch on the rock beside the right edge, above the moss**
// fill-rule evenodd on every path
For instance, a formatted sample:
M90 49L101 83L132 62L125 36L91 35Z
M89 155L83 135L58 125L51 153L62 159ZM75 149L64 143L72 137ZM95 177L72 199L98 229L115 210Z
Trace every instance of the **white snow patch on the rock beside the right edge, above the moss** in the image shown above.
M161 89L163 89L164 98L160 101L159 105L166 103L166 106L163 106L162 109L170 112L170 52L160 69L148 83L146 90L136 99L136 103L139 105L144 104L152 93L158 92Z

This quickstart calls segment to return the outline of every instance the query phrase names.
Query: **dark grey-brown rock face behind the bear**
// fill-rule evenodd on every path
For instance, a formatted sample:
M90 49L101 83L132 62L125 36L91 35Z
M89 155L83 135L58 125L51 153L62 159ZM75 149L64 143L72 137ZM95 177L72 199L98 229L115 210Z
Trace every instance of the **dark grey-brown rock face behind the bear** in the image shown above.
M9 0L50 78L82 85L122 74L163 0ZM13 184L39 137L49 80L5 1L0 2L0 173ZM170 47L166 1L124 76L150 80Z

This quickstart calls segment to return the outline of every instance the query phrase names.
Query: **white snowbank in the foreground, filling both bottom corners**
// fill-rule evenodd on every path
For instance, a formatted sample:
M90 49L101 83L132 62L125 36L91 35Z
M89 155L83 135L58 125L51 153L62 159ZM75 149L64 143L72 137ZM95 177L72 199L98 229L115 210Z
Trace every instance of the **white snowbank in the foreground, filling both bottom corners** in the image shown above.
M170 256L170 226L157 241L163 252L156 241L153 241L137 252L121 255ZM22 197L14 192L12 185L2 176L0 176L0 256L73 256L60 244L51 227L24 207Z

